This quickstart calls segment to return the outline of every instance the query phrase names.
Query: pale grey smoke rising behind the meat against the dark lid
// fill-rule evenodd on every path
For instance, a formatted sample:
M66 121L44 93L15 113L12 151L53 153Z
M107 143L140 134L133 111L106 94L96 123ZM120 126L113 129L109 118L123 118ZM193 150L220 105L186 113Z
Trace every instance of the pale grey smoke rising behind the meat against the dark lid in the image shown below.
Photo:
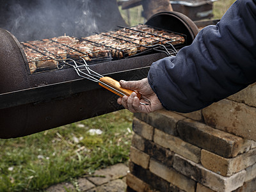
M0 8L0 27L10 31L20 41L61 35L88 36L113 29L113 22L116 27L120 16L116 17L116 13L111 13L114 12L110 10L115 8L114 2L116 3L113 0L7 0ZM121 24L125 23L122 21Z

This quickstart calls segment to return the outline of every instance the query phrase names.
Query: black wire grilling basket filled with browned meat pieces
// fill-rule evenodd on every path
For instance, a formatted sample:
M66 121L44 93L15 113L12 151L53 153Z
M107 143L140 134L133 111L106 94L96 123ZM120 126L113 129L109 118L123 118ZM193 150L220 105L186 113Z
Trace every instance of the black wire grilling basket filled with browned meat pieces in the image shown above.
M70 60L85 60L90 65L156 51L176 54L176 48L186 44L186 36L140 24L84 38L59 36L20 44L35 74L60 69Z

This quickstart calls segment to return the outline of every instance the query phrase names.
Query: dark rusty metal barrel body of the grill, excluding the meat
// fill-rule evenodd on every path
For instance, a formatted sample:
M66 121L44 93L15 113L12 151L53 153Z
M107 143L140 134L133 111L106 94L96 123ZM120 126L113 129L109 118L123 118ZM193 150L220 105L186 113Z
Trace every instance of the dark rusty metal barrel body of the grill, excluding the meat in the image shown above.
M148 24L184 34L187 36L184 45L188 45L195 38L197 28L193 23L188 25L186 17L177 15L164 13L163 17L158 14L148 20ZM164 28L164 22L167 28ZM172 22L175 23L173 26L169 24ZM177 25L186 30L176 29ZM122 109L116 103L118 96L93 81L81 79L74 68L31 74L24 49L15 36L0 29L0 40L0 138L26 136ZM113 59L111 52L111 60L109 57L101 58L104 62L97 60L90 68L117 81L138 80L147 77L152 62L164 58L166 54L155 51L124 56L125 59Z

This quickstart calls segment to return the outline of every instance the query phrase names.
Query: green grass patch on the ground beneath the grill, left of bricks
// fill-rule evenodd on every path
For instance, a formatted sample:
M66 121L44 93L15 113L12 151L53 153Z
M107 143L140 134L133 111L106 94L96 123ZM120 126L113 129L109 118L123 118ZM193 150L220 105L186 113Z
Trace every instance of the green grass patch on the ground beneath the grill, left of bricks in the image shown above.
M97 168L125 163L131 126L132 113L122 110L24 138L0 140L0 191L40 191ZM92 136L89 129L100 129L102 134Z

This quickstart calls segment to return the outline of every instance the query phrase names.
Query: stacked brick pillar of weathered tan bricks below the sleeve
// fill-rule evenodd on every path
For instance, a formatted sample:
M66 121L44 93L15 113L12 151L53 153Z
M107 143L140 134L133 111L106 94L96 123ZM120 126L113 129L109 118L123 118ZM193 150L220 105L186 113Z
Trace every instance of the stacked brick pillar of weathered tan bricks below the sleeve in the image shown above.
M134 115L127 191L256 191L256 84L193 113Z

